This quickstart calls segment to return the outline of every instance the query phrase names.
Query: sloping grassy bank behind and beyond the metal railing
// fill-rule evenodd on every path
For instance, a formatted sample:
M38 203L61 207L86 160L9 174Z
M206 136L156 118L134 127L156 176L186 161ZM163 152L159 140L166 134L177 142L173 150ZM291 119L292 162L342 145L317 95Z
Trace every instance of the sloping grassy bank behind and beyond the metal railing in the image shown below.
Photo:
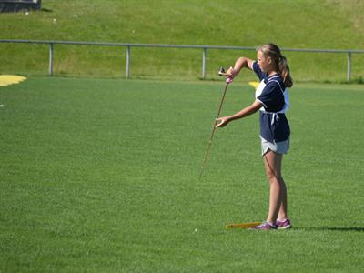
M357 0L44 0L43 10L0 15L0 39L284 48L364 48L364 2ZM157 8L156 8L157 7ZM269 7L269 8L268 8ZM126 47L55 45L58 76L126 76ZM0 74L48 73L48 45L0 43ZM346 54L284 52L295 80L345 82ZM207 78L254 51L208 50ZM132 48L131 76L196 80L202 50ZM364 81L353 54L353 82ZM243 80L248 80L248 76Z

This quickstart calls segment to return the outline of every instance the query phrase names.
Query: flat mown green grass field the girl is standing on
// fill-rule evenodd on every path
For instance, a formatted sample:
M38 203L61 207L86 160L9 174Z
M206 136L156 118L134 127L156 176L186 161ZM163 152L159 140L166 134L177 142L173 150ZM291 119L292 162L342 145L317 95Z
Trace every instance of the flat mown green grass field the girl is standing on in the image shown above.
M290 90L294 228L263 220L258 116L219 129L223 82L30 77L0 87L0 272L361 272L362 86ZM253 99L227 90L223 112Z

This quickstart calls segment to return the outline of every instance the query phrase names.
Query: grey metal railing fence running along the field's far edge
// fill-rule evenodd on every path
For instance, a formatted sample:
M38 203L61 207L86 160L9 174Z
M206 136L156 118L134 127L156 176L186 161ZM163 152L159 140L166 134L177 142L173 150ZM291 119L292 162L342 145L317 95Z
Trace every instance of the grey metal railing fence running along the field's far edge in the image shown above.
M76 41L44 41L44 40L8 40L0 39L0 43L22 43L49 45L48 73L53 75L54 45L96 45L96 46L120 46L126 47L126 78L130 77L131 47L164 47L164 48L190 48L202 50L202 78L207 77L207 49L226 50L256 50L253 46L223 46L223 45L160 45L160 44L128 44L128 43L99 43L99 42L76 42ZM281 51L307 52L307 53L339 53L347 55L347 80L351 77L352 54L364 54L364 50L357 49L315 49L315 48L281 48Z

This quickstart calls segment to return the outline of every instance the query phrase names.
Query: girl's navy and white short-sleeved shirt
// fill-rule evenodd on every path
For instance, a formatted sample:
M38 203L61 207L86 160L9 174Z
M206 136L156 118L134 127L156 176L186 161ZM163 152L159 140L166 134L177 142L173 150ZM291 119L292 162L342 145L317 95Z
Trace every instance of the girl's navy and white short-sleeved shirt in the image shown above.
M268 76L257 62L252 68L260 80L256 99L263 105L259 110L260 136L269 142L285 141L290 135L285 115L289 107L288 89L278 74Z

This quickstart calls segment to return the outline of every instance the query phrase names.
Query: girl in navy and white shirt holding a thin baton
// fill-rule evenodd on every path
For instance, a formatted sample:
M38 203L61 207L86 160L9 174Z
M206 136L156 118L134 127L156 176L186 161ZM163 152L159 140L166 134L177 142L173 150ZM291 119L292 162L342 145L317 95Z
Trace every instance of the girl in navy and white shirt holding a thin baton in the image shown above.
M224 127L233 120L250 116L259 110L262 156L269 181L269 210L265 222L253 229L291 227L287 215L287 188L281 174L283 154L289 148L289 125L285 112L289 107L287 87L293 85L285 56L277 45L261 45L257 49L257 61L238 58L234 67L227 71L227 80L238 76L247 67L259 77L256 100L233 116L217 118L216 126Z

